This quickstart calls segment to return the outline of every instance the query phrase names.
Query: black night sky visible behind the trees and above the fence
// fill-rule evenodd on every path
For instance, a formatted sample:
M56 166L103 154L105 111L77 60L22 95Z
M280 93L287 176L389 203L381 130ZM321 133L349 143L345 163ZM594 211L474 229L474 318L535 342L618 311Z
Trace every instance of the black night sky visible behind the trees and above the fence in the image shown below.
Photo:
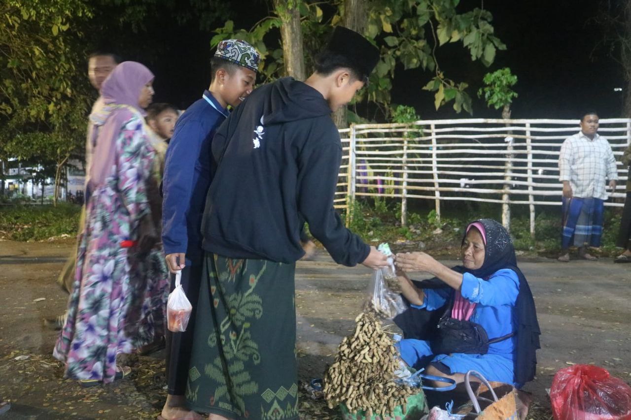
M232 3L244 9L242 1ZM614 91L626 87L622 68L604 47L597 47L603 38L603 28L592 19L597 6L593 1L485 0L484 7L493 14L495 34L507 50L498 51L487 68L472 62L461 44L447 45L437 49L439 64L448 77L469 83L473 117L500 117L501 111L488 109L476 92L485 73L505 66L519 78L514 87L519 97L512 106L513 118L578 118L584 109L597 110L601 118L622 117L623 93ZM264 3L248 2L247 11L233 16L235 27L250 28L266 14ZM147 42L139 37L119 52L154 71L156 102L187 107L208 87L212 34L200 31L195 23L175 25L168 14L148 26L144 36L163 49L143 49ZM215 26L223 26L223 22ZM398 69L392 102L415 107L422 119L469 117L464 112L456 114L451 105L436 111L433 93L421 90L430 78L432 73L420 69Z

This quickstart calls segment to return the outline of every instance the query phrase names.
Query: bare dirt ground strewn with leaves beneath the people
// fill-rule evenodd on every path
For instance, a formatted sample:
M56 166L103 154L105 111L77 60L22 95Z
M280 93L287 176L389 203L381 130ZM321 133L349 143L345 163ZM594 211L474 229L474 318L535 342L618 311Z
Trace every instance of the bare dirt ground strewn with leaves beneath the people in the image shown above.
M12 405L0 419L155 418L166 394L163 352L129 359L134 370L129 380L87 389L64 380L61 363L50 356L57 333L45 329L42 320L66 307L67 295L56 277L71 247L0 242L0 400ZM563 264L540 258L519 265L533 290L542 330L538 376L525 387L533 393L536 418L549 413L546 388L553 374L572 363L594 363L631 382L631 264L611 259ZM370 275L365 267L334 264L322 250L315 260L298 262L301 380L322 377L339 341L353 327ZM339 418L301 396L301 418Z

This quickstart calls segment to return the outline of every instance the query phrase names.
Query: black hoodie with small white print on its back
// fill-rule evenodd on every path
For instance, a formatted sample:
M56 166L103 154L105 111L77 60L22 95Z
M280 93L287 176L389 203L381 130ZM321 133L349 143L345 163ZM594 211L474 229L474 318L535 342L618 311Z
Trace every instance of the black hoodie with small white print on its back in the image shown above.
M225 257L295 262L304 222L338 264L370 248L333 208L342 147L314 88L283 78L252 92L213 138L203 248Z

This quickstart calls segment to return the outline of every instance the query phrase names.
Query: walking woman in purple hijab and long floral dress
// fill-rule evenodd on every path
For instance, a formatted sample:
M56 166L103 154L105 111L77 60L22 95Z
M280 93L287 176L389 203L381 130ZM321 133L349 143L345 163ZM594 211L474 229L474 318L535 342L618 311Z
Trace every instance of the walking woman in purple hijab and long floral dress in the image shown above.
M84 386L128 375L131 369L117 366L117 355L163 334L167 271L154 249L155 150L143 117L152 83L145 66L122 62L103 82L105 105L90 115L86 217L68 319L53 351L66 363L66 376Z

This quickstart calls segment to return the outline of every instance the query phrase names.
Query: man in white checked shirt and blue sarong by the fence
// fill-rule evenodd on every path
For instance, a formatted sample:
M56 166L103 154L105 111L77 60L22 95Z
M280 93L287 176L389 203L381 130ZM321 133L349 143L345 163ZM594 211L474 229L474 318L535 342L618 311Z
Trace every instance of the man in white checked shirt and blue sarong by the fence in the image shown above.
M558 159L559 180L563 182L562 255L558 260L570 260L571 245L579 248L579 257L596 260L586 247L600 247L603 235L606 180L611 190L616 188L618 172L609 142L598 133L598 115L582 115L581 131L567 138Z

